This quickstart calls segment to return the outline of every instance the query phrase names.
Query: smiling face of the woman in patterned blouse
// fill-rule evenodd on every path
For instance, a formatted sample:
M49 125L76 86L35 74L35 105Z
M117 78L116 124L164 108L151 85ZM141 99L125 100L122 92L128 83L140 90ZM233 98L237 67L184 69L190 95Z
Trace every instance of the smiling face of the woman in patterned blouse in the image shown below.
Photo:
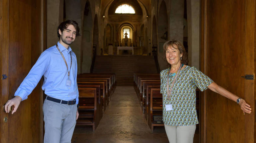
M166 60L171 65L179 64L183 53L180 53L177 46L169 46L165 51Z

